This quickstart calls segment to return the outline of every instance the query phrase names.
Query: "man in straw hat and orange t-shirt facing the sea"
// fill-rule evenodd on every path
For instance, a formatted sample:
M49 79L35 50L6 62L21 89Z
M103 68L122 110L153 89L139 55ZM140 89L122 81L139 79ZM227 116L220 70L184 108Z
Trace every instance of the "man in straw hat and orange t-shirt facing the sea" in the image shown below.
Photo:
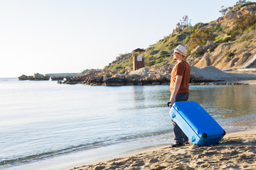
M188 62L184 60L186 52L186 48L182 45L178 45L178 47L174 49L174 60L176 60L178 63L171 71L171 98L169 101L171 105L176 101L188 101L188 82L190 78L191 67ZM181 128L178 127L174 120L171 120L171 122L174 129L174 140L176 142L170 147L179 147L184 143L188 143L188 137L186 137Z

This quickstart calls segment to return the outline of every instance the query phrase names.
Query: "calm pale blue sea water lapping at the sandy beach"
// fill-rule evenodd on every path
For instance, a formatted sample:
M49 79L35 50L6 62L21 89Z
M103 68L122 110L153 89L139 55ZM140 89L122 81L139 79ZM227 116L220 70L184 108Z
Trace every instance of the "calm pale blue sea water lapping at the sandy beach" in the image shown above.
M255 128L256 85L191 86L229 131ZM173 142L169 86L0 79L0 169L68 169Z

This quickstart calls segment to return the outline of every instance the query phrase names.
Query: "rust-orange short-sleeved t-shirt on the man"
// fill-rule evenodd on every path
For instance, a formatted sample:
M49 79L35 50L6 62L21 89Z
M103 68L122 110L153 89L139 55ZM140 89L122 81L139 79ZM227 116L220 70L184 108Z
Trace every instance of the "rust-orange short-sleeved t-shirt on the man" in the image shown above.
M181 86L178 89L177 94L189 92L188 82L189 82L189 78L190 78L190 72L191 72L191 67L188 64L188 62L186 62L185 60L178 62L174 66L174 69L172 69L172 71L171 71L171 83L170 83L171 94L173 94L173 92L174 92L174 84L176 81L176 76L182 76Z

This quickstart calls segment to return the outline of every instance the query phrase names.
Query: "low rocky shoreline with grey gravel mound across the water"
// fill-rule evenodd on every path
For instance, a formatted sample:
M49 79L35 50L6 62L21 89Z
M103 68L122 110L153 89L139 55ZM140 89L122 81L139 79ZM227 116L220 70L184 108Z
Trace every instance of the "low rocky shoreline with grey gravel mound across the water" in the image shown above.
M75 77L49 77L43 74L33 76L22 75L19 80L49 80L58 84L88 84L91 86L149 86L169 85L171 75L169 72L150 72L147 68L138 69L125 74L114 72L93 71L87 74L78 74ZM215 67L199 69L191 67L190 85L235 85L246 84L239 81L256 80L256 74L227 73Z

